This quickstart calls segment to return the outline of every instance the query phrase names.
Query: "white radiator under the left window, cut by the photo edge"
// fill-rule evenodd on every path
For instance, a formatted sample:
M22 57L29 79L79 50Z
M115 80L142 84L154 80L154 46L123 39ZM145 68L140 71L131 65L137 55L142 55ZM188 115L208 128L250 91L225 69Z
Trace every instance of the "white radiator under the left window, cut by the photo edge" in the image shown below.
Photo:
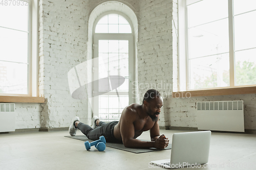
M0 103L0 132L15 131L15 104Z

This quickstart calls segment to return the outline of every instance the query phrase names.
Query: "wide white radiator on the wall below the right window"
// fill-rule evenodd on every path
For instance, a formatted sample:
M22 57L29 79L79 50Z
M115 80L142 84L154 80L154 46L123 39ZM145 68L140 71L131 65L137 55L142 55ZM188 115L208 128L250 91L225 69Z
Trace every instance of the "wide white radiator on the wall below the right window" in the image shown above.
M197 102L198 129L244 132L243 102Z

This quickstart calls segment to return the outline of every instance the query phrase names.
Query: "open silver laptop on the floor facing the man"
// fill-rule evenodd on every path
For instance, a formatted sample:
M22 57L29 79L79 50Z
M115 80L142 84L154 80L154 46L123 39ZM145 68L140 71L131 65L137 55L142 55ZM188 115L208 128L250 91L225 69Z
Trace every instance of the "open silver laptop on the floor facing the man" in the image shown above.
M170 159L151 161L160 167L203 167L208 162L211 131L184 132L173 135Z

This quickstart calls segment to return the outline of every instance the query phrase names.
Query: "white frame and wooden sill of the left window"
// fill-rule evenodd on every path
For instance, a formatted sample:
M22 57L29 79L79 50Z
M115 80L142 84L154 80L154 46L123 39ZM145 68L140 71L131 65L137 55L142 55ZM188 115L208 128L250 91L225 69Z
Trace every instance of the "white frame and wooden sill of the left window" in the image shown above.
M22 0L28 2L28 94L0 93L0 102L15 103L44 103L44 97L38 96L38 73L39 73L39 40L38 40L38 0Z

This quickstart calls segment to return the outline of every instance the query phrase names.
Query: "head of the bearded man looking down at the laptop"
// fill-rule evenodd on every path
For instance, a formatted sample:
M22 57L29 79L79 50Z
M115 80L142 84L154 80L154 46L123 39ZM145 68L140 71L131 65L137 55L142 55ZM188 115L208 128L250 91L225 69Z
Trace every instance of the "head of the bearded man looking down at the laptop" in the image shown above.
M156 122L163 106L163 99L160 92L155 89L147 90L144 94L142 105L146 107L148 116Z

